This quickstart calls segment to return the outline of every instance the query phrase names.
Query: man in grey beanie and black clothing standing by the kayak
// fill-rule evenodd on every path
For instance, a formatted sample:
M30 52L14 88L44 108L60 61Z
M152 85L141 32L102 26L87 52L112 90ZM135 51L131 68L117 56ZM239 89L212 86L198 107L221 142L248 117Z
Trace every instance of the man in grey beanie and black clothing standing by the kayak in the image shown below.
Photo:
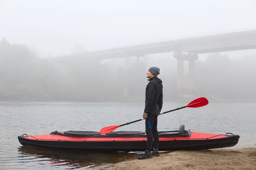
M160 74L160 69L151 67L148 69L147 78L148 85L145 93L145 109L143 119L145 119L145 129L147 134L147 149L141 154L138 159L148 159L152 156L160 156L158 151L159 137L157 131L157 116L163 106L163 85L162 80L157 76ZM154 148L151 153L152 142L154 137Z

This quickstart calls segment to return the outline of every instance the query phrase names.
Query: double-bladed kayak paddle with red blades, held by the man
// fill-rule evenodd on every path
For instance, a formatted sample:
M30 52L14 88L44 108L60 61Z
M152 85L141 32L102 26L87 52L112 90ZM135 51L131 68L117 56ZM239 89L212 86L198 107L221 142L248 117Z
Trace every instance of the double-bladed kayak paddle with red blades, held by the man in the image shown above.
M200 107L202 107L202 106L208 105L208 103L209 103L209 102L208 102L208 100L207 100L206 98L200 97L200 98L198 98L198 99L193 100L192 102L190 102L190 103L189 103L188 105L186 105L186 106L183 106L183 107L180 107L180 108L176 108L176 109L173 109L173 110L171 110L171 111L166 111L166 112L160 113L160 115L165 114L165 113L169 113L169 112L172 112L172 111L177 111L177 110L183 109L183 108L200 108ZM121 127L121 126L124 126L124 125L129 125L129 124L134 123L134 122L139 122L139 121L141 121L141 120L143 120L143 118L142 118L142 119L135 120L135 121L133 121L133 122L128 122L128 123L125 123L125 124L122 124L122 125L114 125L114 126L103 127L103 128L99 131L99 133L100 133L100 134L109 133L109 132L112 132L112 131L116 130L118 127Z

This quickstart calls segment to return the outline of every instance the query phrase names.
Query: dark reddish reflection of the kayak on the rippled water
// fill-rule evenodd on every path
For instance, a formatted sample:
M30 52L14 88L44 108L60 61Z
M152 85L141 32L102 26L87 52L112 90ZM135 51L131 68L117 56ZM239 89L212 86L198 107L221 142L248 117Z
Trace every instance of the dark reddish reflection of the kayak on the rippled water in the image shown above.
M93 168L104 164L113 164L136 156L134 153L102 153L81 150L44 149L37 147L19 147L20 163L33 163L33 168L62 167L63 169ZM62 169L61 168L61 169Z

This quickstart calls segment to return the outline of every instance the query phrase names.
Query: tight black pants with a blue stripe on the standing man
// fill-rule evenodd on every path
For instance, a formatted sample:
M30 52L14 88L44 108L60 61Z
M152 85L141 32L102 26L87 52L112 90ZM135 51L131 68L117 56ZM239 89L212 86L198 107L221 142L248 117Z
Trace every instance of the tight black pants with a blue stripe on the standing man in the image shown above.
M147 134L147 150L151 151L154 137L154 148L158 149L159 136L157 131L157 116L148 113L148 118L145 119L146 134Z

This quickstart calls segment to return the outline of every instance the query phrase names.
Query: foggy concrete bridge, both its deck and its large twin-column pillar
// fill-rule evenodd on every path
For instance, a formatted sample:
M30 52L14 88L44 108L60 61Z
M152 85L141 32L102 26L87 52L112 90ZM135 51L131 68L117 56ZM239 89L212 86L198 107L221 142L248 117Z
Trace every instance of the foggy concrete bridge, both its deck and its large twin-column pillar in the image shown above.
M194 65L198 59L198 54L249 49L256 49L256 30L132 45L92 51L79 55L55 57L53 60L56 62L68 62L72 59L81 59L84 57L97 59L137 57L139 60L140 57L144 57L147 54L174 52L173 57L177 59L178 65L177 97L178 100L182 100L182 98L187 97L193 98ZM189 61L189 77L186 79L183 77L184 60Z

